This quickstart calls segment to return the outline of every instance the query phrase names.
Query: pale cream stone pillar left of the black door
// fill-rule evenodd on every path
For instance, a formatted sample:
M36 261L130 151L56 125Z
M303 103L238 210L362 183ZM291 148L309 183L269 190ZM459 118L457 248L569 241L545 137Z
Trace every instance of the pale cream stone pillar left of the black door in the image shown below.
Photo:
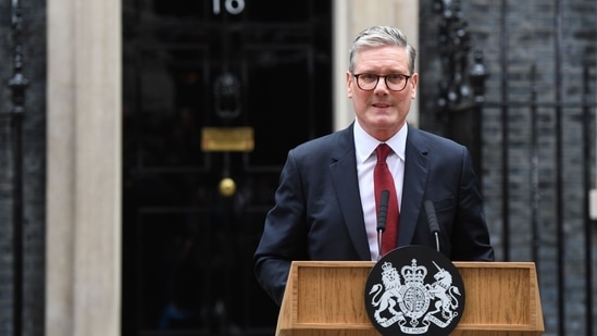
M121 329L121 0L48 0L47 336Z

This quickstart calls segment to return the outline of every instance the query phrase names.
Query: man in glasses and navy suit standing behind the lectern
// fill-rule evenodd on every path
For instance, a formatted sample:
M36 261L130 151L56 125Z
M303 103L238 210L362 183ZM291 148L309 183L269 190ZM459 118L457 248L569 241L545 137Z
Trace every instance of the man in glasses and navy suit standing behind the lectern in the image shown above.
M374 26L359 34L349 57L356 120L288 152L254 253L258 282L277 304L294 260L378 259L373 171L380 144L391 148L397 247L436 248L423 207L430 200L441 253L452 261L495 259L469 151L407 123L419 82L414 48L399 29Z

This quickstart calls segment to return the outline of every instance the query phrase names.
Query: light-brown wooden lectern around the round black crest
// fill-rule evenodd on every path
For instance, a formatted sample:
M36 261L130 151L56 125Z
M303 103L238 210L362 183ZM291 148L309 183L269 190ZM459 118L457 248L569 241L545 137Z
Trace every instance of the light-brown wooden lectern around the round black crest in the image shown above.
M373 261L295 261L276 336L378 336L364 288ZM545 331L533 262L455 262L467 300L450 335L527 336Z

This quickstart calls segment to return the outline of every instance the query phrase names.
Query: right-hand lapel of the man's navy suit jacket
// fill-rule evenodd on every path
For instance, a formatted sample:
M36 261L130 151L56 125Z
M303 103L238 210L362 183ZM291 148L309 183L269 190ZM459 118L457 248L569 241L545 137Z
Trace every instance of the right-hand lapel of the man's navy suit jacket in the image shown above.
M427 146L418 129L409 127L405 160L405 183L400 207L398 246L410 245L416 227L428 174Z

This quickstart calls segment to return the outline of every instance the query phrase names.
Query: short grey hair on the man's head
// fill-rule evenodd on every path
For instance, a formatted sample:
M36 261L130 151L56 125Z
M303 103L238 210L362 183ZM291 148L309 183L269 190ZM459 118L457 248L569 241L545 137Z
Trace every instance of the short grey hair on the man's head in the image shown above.
M383 46L397 46L406 48L409 58L410 74L414 73L416 50L408 42L407 36L400 29L391 26L372 26L359 33L349 50L350 59L348 60L348 71L350 73L355 72L355 59L359 51Z

